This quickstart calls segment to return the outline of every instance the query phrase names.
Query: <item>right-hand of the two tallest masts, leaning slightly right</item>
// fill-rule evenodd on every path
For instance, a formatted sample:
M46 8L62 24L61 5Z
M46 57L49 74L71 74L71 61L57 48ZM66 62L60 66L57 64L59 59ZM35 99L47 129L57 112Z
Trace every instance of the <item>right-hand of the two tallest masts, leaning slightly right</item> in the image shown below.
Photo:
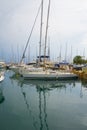
M47 46L47 33L48 33L49 12L50 12L50 0L49 0L49 4L48 4L47 24L46 24L46 33L45 33L44 65L45 65L45 61L46 61L46 46Z

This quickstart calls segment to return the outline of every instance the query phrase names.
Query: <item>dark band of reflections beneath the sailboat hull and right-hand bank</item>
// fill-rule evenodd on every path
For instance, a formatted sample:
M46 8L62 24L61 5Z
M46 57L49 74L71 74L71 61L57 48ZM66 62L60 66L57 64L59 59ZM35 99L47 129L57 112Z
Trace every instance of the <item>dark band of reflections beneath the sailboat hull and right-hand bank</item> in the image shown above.
M83 98L83 89L87 91L87 80L64 80L64 81L42 81L42 80L24 80L22 77L19 77L18 75L13 74L11 77L11 80L17 81L18 85L23 87L24 85L30 85L35 86L38 91L52 91L54 89L62 90L70 88L70 92L72 92L72 89L76 87L77 83L80 85L80 92L79 96L80 98Z

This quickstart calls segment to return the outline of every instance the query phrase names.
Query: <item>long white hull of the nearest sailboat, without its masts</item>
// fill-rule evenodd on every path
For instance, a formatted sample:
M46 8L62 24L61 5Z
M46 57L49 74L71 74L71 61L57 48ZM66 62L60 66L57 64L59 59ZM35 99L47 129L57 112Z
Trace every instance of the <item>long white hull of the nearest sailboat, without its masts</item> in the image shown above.
M37 69L38 70L38 69ZM60 72L60 71L28 71L28 70L21 70L21 75L24 79L74 79L78 78L76 74L70 72Z

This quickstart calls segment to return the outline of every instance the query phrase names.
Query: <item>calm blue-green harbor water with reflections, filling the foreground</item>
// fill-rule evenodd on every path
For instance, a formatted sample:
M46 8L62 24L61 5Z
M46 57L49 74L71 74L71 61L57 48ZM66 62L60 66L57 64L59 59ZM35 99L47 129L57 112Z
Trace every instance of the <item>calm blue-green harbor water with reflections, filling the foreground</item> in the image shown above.
M87 130L87 82L25 81L6 71L0 130Z

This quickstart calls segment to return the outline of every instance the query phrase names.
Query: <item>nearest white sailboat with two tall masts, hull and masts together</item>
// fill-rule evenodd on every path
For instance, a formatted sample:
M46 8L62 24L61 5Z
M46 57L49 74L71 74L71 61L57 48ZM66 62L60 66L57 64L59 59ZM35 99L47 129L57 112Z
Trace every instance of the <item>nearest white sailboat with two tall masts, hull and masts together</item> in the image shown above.
M42 0L43 6L43 0ZM43 7L42 7L43 11ZM49 11L50 11L50 0L48 4L48 14L47 14L47 24L46 24L46 33L45 33L45 48L44 48L44 67L24 67L19 69L20 75L24 77L24 79L46 79L46 80L57 80L57 79L75 79L77 78L76 74L70 72L61 72L54 71L51 69L46 69L46 44L47 44L47 32L48 32L48 21L49 21ZM42 30L42 18L41 18L41 30ZM42 33L41 33L42 35ZM41 37L40 36L40 48L41 48ZM41 56L41 51L39 51L39 58ZM40 59L39 59L40 62Z

